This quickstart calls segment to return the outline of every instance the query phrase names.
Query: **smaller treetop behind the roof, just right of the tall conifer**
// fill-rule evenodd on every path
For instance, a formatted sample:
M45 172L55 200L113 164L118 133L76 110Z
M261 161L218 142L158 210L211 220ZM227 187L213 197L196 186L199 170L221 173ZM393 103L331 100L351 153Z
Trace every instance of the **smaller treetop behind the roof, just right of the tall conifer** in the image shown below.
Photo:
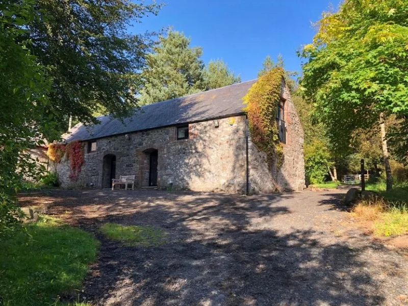
M235 76L234 72L222 60L210 61L205 70L207 89L215 89L241 82L241 77Z

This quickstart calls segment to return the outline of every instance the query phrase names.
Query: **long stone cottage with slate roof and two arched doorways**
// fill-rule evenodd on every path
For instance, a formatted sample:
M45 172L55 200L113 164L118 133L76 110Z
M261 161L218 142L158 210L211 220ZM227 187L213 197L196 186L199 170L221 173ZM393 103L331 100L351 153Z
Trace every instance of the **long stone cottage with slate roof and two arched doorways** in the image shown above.
M282 81L276 120L284 148L281 167L268 166L252 143L242 98L256 80L147 105L122 123L75 125L84 164L71 181L69 161L56 165L65 188L110 188L120 175L136 175L136 188L268 193L304 188L303 130Z

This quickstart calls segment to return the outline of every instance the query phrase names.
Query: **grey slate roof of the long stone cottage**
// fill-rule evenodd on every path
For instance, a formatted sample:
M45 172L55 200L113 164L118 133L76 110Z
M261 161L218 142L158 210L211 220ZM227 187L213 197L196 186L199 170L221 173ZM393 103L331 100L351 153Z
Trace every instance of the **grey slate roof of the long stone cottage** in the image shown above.
M242 114L242 98L255 82L247 81L146 105L132 117L124 119L124 124L109 115L99 116L100 124L87 127L79 123L62 137L66 141L90 140Z

